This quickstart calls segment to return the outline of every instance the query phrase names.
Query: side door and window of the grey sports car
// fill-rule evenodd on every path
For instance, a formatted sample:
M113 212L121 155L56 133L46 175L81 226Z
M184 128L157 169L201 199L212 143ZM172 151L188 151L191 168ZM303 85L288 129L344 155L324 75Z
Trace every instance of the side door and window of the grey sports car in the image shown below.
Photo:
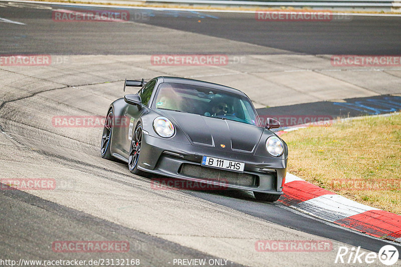
M137 94L141 97L141 102L142 102L142 108L139 110L138 106L136 105L127 105L127 110L126 110L126 119L127 122L129 122L128 127L125 129L125 142L124 142L124 154L128 157L129 155L129 147L131 145L131 140L133 133L135 131L136 124L138 123L138 119L140 115L145 111L147 108L150 98L152 96L154 87L156 85L156 80L152 79L149 82L146 83L145 86L143 86Z

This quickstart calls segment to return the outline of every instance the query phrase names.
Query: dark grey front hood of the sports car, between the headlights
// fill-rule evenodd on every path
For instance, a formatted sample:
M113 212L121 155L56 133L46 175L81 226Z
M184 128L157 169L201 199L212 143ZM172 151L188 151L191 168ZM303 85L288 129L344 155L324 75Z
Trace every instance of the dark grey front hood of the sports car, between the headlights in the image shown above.
M168 111L168 116L175 120L192 144L215 146L226 151L251 153L263 133L261 127L229 119L174 111Z

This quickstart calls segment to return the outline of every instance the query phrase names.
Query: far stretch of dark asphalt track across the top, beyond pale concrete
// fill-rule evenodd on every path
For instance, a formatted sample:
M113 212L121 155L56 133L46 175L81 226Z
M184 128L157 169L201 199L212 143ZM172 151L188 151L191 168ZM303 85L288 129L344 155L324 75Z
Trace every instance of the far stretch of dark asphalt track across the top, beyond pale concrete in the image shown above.
M18 5L14 3L16 6ZM43 5L44 6L44 5ZM57 5L58 8L71 6ZM75 7L77 8L77 7ZM91 7L79 9L93 10ZM101 8L95 8L100 10ZM3 23L2 52L50 54L138 54L217 52L231 54L385 54L401 53L399 17L352 16L333 21L258 21L254 13L132 10L130 21L226 40L255 44L241 47L206 43L202 35L188 42L185 33L149 31L131 23L49 23L48 9L8 6L0 17L27 22L26 27ZM26 29L29 29L27 34ZM164 42L166 38L173 43ZM15 39L20 41L15 42ZM91 45L96 43L97 45ZM168 44L168 45L167 45ZM208 44L208 45L206 45ZM262 47L261 47L262 46ZM200 48L200 49L199 49ZM273 48L273 49L272 49Z

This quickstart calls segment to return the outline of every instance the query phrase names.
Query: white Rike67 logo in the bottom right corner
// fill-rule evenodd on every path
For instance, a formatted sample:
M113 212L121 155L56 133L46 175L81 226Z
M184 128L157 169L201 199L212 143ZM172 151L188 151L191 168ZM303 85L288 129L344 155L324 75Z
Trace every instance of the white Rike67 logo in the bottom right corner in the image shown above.
M384 245L379 252L361 252L360 246L348 249L346 246L338 248L334 263L373 263L380 260L384 265L393 265L398 260L398 250L393 245Z

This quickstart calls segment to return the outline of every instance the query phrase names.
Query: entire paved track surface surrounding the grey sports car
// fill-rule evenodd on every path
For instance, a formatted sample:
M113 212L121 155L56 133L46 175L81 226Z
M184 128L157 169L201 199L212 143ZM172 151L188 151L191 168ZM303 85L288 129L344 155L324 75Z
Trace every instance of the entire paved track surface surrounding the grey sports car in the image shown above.
M53 190L0 190L0 259L129 258L142 266L173 266L177 258L205 258L210 265L226 259L228 266L331 266L340 246L378 252L392 244L401 251L399 244L280 202L257 201L248 191L155 190L152 179L101 158L102 125L54 124L55 116L104 116L123 96L126 77L158 75L238 87L262 115L395 111L401 107L399 66L336 68L330 56L401 54L399 17L266 22L252 13L132 9L131 20L122 23L52 20L52 10L60 8L78 7L0 1L0 55L48 54L53 60L44 66L0 64L0 178L57 184ZM240 62L159 66L149 60L155 53L218 53ZM255 242L265 239L330 240L333 249L256 251ZM62 253L52 248L58 240L125 240L130 249Z

